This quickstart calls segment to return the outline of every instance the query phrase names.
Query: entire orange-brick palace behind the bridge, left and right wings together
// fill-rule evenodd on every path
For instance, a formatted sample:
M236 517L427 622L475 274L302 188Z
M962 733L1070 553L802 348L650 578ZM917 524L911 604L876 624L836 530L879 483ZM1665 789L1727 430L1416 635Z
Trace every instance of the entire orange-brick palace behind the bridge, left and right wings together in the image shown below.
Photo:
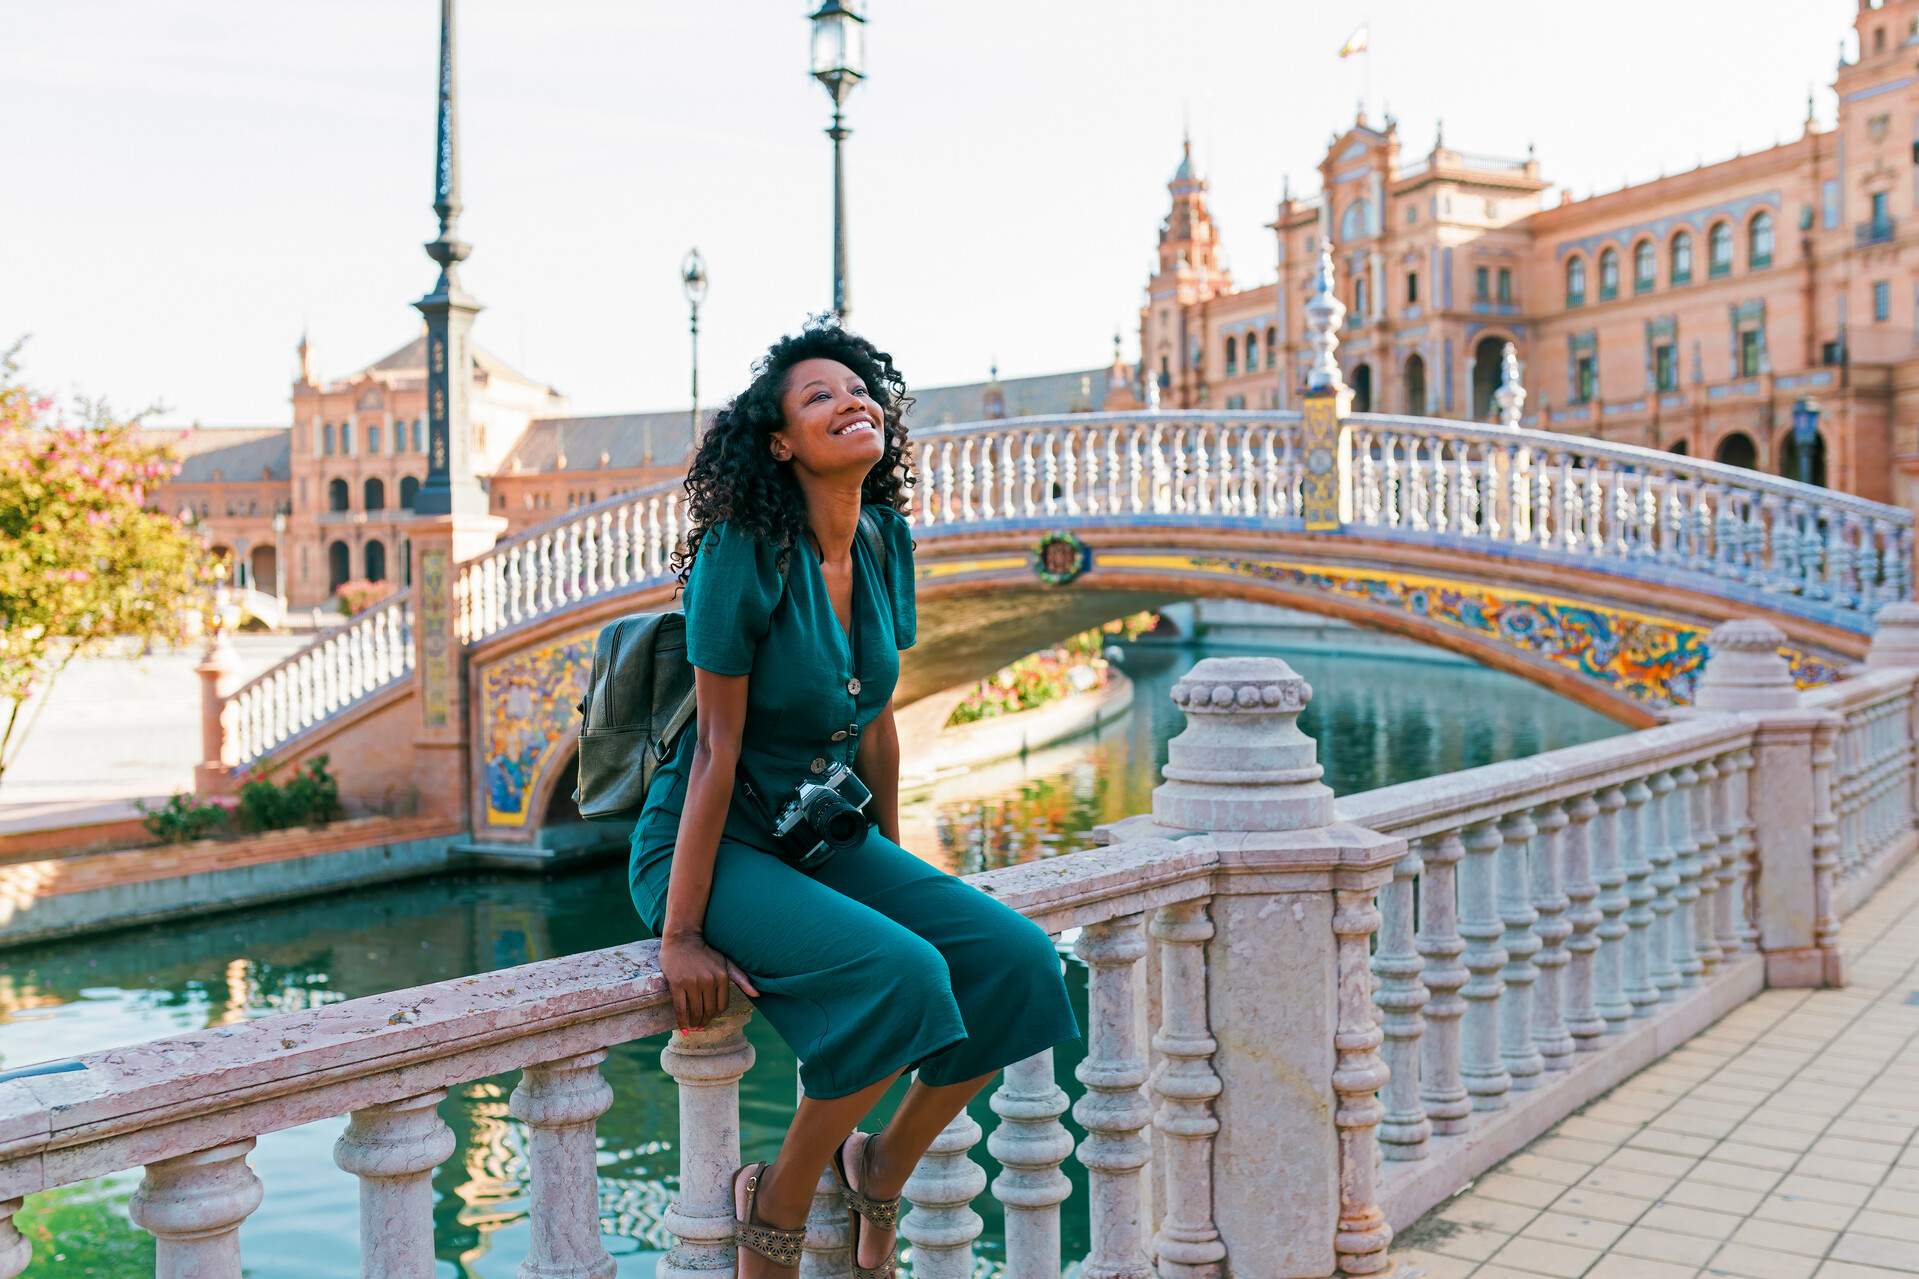
M1361 115L1282 192L1276 282L1236 288L1186 148L1169 182L1140 361L915 390L910 422L1090 409L1291 409L1301 305L1330 242L1353 409L1491 421L1504 346L1528 426L1800 474L1794 405L1817 409L1812 478L1919 505L1919 0L1860 0L1838 119L1769 150L1589 200L1539 159L1409 156ZM184 465L155 494L234 576L296 607L403 578L426 474L424 338L320 378L301 340L288 424L157 432ZM468 451L509 532L683 471L691 413L568 415L474 348ZM278 519L276 519L278 517ZM284 561L282 557L284 547Z

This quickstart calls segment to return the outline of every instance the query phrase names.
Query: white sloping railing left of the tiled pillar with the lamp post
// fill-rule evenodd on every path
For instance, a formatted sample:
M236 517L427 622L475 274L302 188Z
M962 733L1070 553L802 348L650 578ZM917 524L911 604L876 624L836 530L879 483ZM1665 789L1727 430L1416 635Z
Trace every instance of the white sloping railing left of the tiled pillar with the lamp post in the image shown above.
M236 688L221 707L226 764L248 766L413 674L413 591L399 591Z

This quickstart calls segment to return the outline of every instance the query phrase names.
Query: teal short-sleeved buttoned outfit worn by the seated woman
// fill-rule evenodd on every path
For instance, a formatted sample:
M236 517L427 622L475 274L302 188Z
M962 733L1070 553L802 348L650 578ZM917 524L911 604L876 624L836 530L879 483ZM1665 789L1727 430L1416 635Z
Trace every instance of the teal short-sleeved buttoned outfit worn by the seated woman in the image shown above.
M810 872L775 853L773 810L798 784L854 764L860 734L892 699L913 645L913 540L869 505L887 543L854 538L854 645L833 613L819 557L725 522L700 540L687 578L687 659L745 674L739 782L714 857L706 943L760 989L754 1006L800 1058L808 1097L844 1097L898 1070L931 1085L977 1079L1077 1039L1059 954L1036 924L919 860L879 830ZM666 916L679 812L697 736L681 734L633 828L629 887L654 935ZM745 793L752 787L762 803Z

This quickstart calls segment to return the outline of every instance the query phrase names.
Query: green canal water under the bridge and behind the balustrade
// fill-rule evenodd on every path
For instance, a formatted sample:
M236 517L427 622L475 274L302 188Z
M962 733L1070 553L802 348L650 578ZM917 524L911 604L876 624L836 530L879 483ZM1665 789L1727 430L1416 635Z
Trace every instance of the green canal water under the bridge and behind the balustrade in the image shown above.
M902 812L906 843L967 872L1073 851L1096 822L1151 807L1167 741L1182 720L1173 680L1222 649L1132 649L1130 712L1100 734L1023 762L975 770L915 797ZM1512 676L1455 661L1286 653L1313 684L1301 726L1318 741L1338 793L1414 780L1579 741L1620 726ZM236 910L10 951L0 960L0 1068L205 1029L228 1022L526 964L639 935L624 870L603 864L564 876L441 876L320 899ZM1067 956L1084 1024L1084 972ZM758 1062L741 1085L745 1156L771 1158L793 1110L793 1054L748 1024ZM677 1168L677 1108L660 1072L662 1039L612 1050L614 1106L599 1123L601 1223L622 1279L652 1275L668 1244L660 1227ZM1080 1045L1057 1052L1059 1077ZM441 1104L457 1148L434 1175L438 1273L509 1279L528 1244L526 1133L507 1114L514 1077L480 1079ZM973 1118L998 1118L983 1097ZM242 1227L249 1279L353 1279L357 1183L334 1168L345 1120L309 1123L259 1141L251 1164L265 1202ZM1075 1139L1084 1137L1071 1116ZM998 1168L981 1143L973 1158ZM1067 1256L1086 1248L1084 1173L1067 1164ZM21 1227L35 1239L31 1279L125 1279L152 1273L152 1241L127 1219L138 1173L35 1196ZM998 1258L990 1195L984 1260Z

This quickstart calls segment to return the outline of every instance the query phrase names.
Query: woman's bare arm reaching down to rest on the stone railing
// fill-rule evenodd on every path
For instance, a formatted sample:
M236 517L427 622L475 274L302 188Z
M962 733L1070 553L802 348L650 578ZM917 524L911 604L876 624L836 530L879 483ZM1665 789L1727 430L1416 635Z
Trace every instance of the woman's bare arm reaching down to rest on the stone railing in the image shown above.
M733 803L733 774L746 724L746 680L693 668L697 741L660 928L660 970L674 993L681 1029L706 1026L725 1008L727 981L737 981L746 995L760 993L746 974L706 945L706 899L712 895L720 832Z

